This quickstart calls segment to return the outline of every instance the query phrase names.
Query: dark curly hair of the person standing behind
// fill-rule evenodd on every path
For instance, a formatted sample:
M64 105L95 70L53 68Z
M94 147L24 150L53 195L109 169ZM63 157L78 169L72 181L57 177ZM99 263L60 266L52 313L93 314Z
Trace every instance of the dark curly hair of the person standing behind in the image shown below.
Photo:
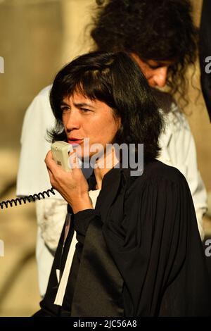
M101 51L127 51L143 60L175 61L167 86L188 104L188 65L195 70L198 30L189 0L110 0L96 8L91 37Z

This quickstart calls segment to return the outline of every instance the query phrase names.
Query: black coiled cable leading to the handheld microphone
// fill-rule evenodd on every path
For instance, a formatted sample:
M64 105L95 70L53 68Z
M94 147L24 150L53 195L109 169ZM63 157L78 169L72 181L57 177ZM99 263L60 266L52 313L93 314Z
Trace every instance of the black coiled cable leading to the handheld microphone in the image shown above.
M11 199L11 200L7 200L7 201L1 201L0 202L0 206L1 209L3 209L4 207L8 208L8 206L13 207L14 205L17 206L18 204L26 204L26 202L32 202L35 200L40 200L40 199L45 199L46 196L50 196L50 193L55 195L55 192L53 191L53 187L51 187L51 189L47 189L47 191L44 192L39 192L39 193L35 193L33 195L29 195L29 196L21 196L20 198L16 198L16 199ZM45 196L46 194L46 196Z

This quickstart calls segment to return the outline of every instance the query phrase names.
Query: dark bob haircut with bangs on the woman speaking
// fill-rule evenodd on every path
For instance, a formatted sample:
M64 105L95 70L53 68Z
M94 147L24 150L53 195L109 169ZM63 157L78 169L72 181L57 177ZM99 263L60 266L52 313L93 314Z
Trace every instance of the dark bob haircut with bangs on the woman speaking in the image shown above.
M65 97L75 92L103 101L113 109L114 117L122 123L115 137L117 144L144 144L145 162L158 156L162 117L146 78L129 55L122 51L92 52L60 70L50 94L56 117L56 128L50 132L53 141L67 139L60 106Z

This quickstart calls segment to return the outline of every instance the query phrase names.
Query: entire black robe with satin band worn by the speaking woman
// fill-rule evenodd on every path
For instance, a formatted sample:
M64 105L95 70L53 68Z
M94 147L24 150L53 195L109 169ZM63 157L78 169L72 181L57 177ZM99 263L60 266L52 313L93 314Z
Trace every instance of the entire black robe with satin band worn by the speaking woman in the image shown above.
M113 168L95 210L74 223L79 243L63 306L53 304L71 242L70 234L62 248L62 233L37 316L211 316L205 252L179 170L160 161L139 177Z

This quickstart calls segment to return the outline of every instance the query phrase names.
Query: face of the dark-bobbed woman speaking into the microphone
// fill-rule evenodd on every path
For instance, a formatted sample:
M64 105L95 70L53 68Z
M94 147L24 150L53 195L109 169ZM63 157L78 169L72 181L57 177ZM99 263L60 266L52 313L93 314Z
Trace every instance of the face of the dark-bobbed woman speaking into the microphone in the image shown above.
M77 144L81 147L82 154L78 156L91 157L98 151L87 151L84 138L89 138L89 147L101 144L101 152L104 154L106 144L113 143L120 128L120 118L114 118L113 109L102 101L90 100L77 92L63 99L60 108L68 143L75 145L77 154Z

